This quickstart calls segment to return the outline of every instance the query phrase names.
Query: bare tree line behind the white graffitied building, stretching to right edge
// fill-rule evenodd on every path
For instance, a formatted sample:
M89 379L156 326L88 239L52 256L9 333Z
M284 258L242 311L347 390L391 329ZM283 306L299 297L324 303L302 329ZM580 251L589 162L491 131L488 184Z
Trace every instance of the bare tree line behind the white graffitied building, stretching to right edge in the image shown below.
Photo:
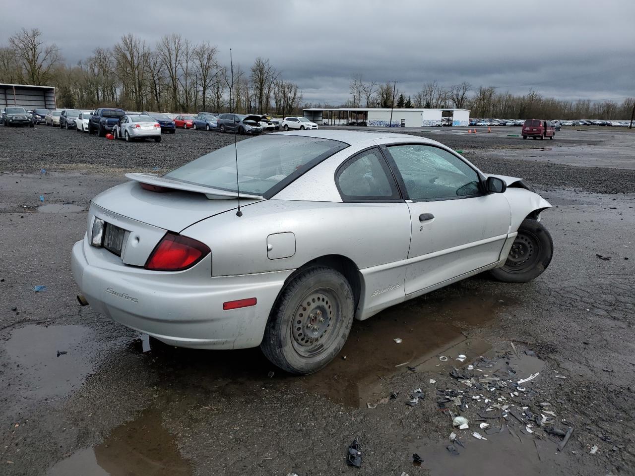
M311 107L462 108L470 109L472 117L502 119L629 119L635 103L635 98L626 98L621 103L614 100L559 100L531 89L525 95L512 95L499 93L493 87L474 88L467 81L449 87L430 81L411 96L404 95L399 88L393 95L394 83L363 81L359 74L351 77L349 88L351 96L344 105Z

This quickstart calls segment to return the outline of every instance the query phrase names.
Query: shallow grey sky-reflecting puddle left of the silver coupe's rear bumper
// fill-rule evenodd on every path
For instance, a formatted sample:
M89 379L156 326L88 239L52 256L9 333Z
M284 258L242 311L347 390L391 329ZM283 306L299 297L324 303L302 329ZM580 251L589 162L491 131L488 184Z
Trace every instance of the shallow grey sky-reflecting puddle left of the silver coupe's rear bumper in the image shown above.
M17 375L15 392L55 400L81 387L92 371L84 349L93 331L84 326L31 325L15 329L4 343Z

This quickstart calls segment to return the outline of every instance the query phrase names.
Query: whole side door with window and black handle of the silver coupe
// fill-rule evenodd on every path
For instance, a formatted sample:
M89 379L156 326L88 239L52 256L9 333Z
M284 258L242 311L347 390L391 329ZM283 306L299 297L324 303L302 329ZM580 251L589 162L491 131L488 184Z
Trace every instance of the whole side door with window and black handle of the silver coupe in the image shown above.
M480 173L436 145L385 144L382 150L410 209L406 294L498 261L511 225L503 194L484 193Z

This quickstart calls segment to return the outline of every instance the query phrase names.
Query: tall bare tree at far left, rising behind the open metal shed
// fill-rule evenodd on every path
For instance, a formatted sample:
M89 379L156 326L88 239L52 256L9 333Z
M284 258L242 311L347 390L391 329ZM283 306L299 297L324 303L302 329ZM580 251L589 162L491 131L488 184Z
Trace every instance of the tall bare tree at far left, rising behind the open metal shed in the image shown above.
M55 43L44 44L38 29L22 29L9 38L9 44L22 69L22 77L29 84L44 84L51 79L51 71L62 62Z

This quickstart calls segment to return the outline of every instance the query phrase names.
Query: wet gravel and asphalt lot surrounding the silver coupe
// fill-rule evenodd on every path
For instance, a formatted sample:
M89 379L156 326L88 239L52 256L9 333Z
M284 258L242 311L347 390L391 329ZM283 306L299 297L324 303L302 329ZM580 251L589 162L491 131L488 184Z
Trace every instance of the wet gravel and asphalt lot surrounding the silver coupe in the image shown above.
M0 473L634 474L635 135L580 129L548 141L514 128L405 130L532 183L554 206L543 214L553 261L530 284L476 276L356 322L340 358L298 378L257 348L147 340L75 298L70 248L91 197L125 172L174 168L232 135L126 143L0 127ZM525 390L462 382L535 373ZM423 397L406 405L417 388ZM470 430L452 426L457 395ZM514 411L505 419L492 404ZM549 423L528 426L526 411ZM573 428L562 451L547 426ZM458 456L447 449L453 431ZM359 470L345 463L356 437Z

